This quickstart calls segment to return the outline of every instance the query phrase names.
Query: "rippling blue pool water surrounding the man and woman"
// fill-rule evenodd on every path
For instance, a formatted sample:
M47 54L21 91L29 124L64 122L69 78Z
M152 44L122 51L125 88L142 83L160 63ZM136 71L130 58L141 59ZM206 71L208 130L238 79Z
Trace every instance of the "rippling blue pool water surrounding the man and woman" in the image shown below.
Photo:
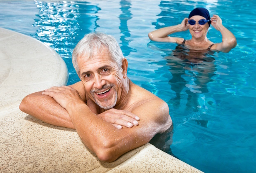
M195 62L175 56L176 44L149 40L150 31L179 24L194 7L218 14L237 47ZM128 58L128 77L169 105L173 131L159 140L162 150L204 172L254 172L255 9L253 0L0 1L0 27L55 49L68 84L79 80L71 63L77 42L91 31L113 35ZM173 35L190 39L189 31ZM208 38L221 42L212 26Z

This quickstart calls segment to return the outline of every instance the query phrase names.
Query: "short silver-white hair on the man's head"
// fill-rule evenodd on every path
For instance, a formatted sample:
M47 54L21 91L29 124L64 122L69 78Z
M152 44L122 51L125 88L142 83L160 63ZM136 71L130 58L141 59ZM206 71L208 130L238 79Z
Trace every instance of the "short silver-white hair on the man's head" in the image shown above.
M118 65L122 66L123 53L115 38L104 33L90 33L78 42L72 54L72 63L79 76L77 58L83 56L85 59L92 58L99 54L102 50L107 50L109 56Z

